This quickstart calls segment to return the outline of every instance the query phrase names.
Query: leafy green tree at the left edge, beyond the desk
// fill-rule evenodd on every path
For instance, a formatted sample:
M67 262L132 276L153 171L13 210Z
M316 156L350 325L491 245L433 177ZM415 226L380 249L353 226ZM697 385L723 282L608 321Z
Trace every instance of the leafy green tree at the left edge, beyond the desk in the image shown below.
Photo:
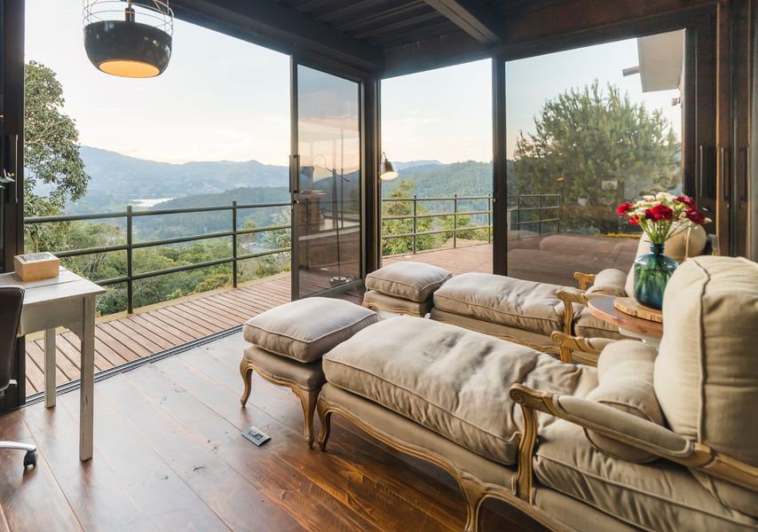
M87 191L90 177L79 153L75 121L62 112L63 86L47 66L29 61L24 68L24 215L59 215L66 202ZM50 192L37 194L37 185ZM63 243L65 228L27 225L34 250L54 251Z

